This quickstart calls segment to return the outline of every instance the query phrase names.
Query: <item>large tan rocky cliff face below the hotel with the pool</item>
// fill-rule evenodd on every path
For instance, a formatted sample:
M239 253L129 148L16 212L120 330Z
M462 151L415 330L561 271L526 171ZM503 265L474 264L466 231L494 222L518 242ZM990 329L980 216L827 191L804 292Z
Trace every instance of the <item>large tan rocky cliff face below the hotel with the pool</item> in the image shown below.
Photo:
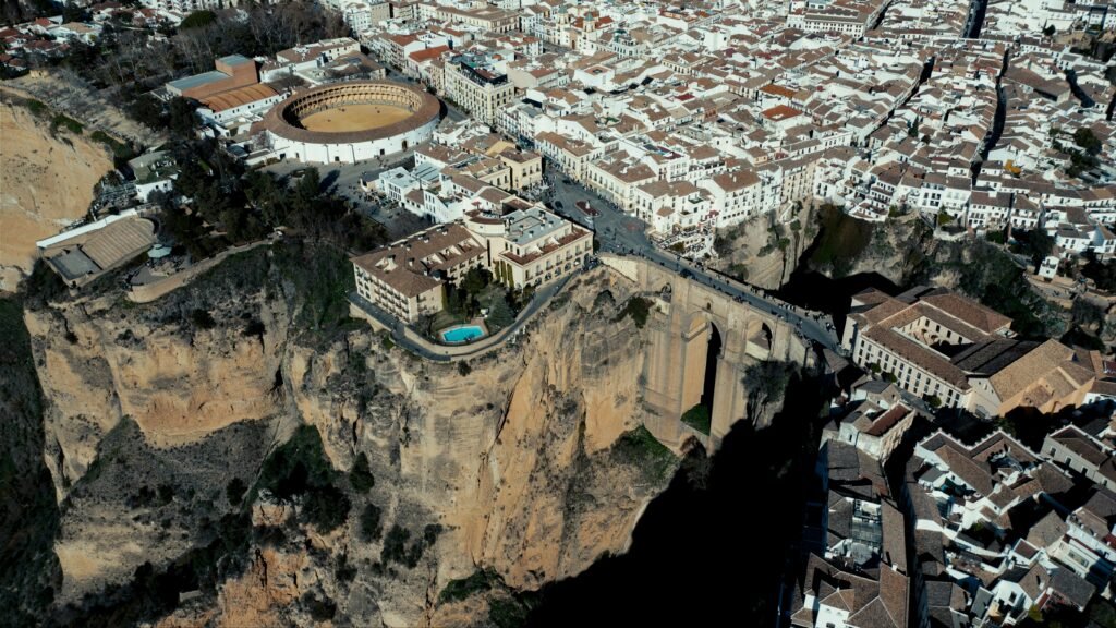
M253 251L150 305L109 291L25 316L61 508L60 617L196 563L241 512L251 530L215 589L186 579L177 592L201 594L164 606L177 608L155 613L163 625L473 625L491 600L440 596L448 583L484 571L499 587L483 590L535 589L625 549L674 465L632 432L643 354L631 320L614 322L625 279L576 278L513 345L460 367L363 324L307 331L325 310L276 257ZM251 488L299 425L352 505L329 532L306 523L310 493ZM344 480L360 454L367 492Z

